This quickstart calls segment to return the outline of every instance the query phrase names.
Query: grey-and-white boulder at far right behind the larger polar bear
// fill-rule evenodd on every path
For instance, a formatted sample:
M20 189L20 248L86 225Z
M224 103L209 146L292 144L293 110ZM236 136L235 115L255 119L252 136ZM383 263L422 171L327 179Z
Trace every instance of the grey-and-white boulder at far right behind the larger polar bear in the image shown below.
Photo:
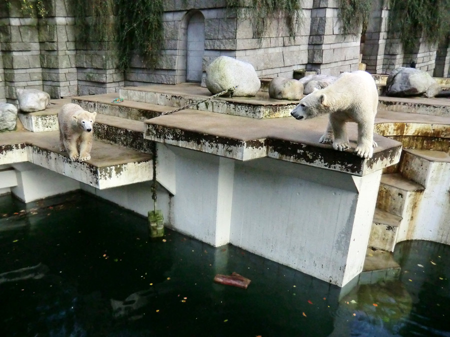
M437 95L440 87L426 71L399 67L387 76L386 94L388 96L413 96L424 94L431 98Z

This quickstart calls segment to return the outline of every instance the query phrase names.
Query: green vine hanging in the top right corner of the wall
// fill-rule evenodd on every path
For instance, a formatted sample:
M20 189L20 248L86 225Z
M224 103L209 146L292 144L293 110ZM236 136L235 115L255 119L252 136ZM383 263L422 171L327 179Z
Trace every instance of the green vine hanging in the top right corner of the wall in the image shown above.
M450 0L391 0L389 30L399 33L405 50L411 50L423 36L429 44L450 33Z

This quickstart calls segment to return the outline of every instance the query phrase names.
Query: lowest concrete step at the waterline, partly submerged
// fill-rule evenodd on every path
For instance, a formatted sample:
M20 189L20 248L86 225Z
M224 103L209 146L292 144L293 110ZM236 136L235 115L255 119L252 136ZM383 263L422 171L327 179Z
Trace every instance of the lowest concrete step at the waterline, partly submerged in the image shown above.
M374 284L381 281L395 280L400 277L400 272L400 265L395 262L392 253L367 248L358 284Z

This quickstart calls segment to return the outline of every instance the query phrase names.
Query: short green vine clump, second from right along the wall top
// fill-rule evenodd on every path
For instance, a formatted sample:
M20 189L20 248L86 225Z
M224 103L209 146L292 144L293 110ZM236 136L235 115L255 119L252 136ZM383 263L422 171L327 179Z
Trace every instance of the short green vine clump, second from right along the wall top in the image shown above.
M363 31L370 16L371 0L339 0L337 17L344 35L356 34L362 25Z

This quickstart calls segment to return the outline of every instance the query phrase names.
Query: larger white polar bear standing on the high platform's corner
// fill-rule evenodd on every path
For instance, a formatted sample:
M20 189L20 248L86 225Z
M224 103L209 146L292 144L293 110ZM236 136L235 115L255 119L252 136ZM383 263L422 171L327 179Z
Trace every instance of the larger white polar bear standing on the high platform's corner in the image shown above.
M358 124L358 140L354 150L359 157L371 158L373 122L378 106L378 91L372 76L365 71L342 73L327 87L303 97L290 113L295 119L307 119L329 113L328 126L319 142L331 144L334 150L348 149L346 122Z

